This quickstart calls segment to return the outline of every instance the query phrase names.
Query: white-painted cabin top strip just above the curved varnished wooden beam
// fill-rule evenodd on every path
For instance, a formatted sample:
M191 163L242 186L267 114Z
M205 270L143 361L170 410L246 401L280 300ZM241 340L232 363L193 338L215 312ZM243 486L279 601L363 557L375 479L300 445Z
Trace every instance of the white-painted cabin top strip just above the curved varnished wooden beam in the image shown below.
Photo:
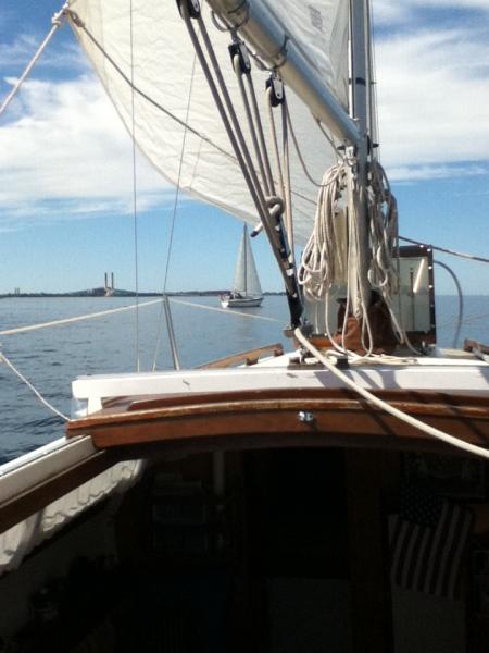
M328 370L290 365L297 354L267 358L250 367L79 377L73 382L73 417L101 408L104 398L172 393L220 393L266 389L340 387ZM432 390L488 396L489 365L474 356L386 359L359 362L344 371L367 390Z

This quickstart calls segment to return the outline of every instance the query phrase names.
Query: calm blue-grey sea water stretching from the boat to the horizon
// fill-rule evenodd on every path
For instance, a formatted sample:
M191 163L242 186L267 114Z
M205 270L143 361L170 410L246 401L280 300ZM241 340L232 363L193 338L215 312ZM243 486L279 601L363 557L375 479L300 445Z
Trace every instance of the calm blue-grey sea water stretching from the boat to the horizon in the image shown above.
M0 336L12 364L59 410L70 415L71 382L77 375L172 369L161 305L37 331ZM134 298L4 298L0 331L134 305ZM459 345L469 337L489 341L489 296L464 297L464 324ZM253 347L289 341L284 296L267 296L261 308L218 310L217 297L175 297L171 301L181 367L196 367ZM451 346L457 298L437 297L438 343ZM138 325L138 330L136 329ZM136 332L139 332L138 337ZM159 346L158 346L159 345ZM158 348L158 352L156 352ZM137 356L136 350L139 350ZM42 406L5 365L0 365L0 461L60 438L63 421Z

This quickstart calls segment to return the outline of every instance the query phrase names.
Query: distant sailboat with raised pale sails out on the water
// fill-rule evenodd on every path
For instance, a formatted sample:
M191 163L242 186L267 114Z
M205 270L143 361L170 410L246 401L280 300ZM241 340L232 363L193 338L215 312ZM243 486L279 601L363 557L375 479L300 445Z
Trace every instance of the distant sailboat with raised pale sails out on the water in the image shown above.
M252 308L261 306L262 301L262 287L251 250L248 226L244 224L233 289L228 294L221 295L221 306L223 308Z

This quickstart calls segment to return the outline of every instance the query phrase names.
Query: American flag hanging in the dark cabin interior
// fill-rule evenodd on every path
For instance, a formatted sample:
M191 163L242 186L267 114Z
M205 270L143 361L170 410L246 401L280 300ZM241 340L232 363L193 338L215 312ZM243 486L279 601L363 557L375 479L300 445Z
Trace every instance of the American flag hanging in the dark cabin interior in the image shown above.
M423 488L405 486L400 513L389 516L391 582L455 599L473 521L472 512L464 506Z

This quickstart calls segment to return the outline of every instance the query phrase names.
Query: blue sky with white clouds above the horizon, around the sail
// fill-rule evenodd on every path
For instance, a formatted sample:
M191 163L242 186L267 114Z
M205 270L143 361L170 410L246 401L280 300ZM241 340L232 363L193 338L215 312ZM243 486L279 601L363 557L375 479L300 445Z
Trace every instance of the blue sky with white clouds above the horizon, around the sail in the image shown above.
M60 5L4 2L1 97ZM374 11L381 160L398 197L400 232L488 257L489 0L377 0ZM0 293L92 287L104 271L133 288L130 144L67 26L0 120ZM96 178L104 160L104 178ZM174 192L143 161L138 169L139 287L158 291ZM180 202L168 287L228 286L240 230L212 207ZM253 250L263 287L281 289L264 237ZM489 294L489 266L440 260L467 293ZM437 287L453 291L442 271Z

